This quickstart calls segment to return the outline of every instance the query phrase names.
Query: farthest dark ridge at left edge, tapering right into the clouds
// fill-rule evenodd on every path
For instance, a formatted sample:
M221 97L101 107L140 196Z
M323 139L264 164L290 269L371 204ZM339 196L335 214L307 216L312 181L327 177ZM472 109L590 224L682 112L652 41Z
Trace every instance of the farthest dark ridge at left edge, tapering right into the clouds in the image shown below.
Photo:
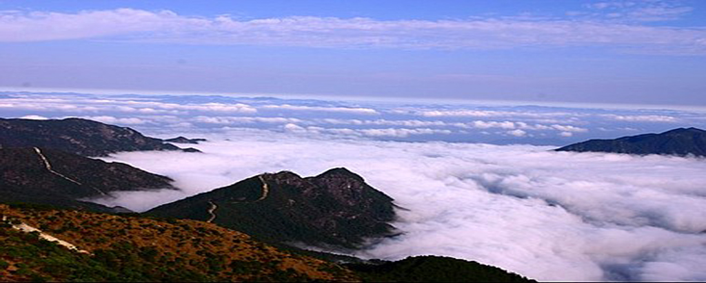
M0 147L42 147L83 156L120 151L184 150L131 128L86 119L0 119ZM184 151L198 151L193 148Z

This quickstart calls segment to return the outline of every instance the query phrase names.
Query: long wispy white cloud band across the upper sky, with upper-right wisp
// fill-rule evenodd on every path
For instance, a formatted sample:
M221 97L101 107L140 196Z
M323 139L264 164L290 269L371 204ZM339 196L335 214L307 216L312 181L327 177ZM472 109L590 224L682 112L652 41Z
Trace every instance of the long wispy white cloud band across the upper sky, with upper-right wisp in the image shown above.
M645 6L633 19L675 18L688 7ZM702 28L659 27L596 18L472 18L375 20L289 16L239 20L181 16L172 11L119 8L78 13L0 13L0 41L114 38L140 42L261 44L305 47L508 49L614 46L704 54Z

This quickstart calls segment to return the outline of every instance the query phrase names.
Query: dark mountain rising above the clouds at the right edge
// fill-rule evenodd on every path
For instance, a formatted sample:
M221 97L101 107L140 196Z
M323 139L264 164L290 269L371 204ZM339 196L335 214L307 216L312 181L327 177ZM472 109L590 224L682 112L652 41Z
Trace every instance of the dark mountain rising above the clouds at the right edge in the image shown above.
M558 148L557 151L706 156L706 131L698 128L676 128L664 133L647 133L614 140L587 140Z

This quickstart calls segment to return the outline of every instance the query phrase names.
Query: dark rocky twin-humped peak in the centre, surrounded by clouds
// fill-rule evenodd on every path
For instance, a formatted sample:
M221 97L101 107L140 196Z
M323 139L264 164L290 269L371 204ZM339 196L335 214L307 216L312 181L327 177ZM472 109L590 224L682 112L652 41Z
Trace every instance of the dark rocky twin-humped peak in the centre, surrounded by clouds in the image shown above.
M307 178L261 174L146 213L213 222L274 243L359 248L393 234L394 207L361 176L336 168Z

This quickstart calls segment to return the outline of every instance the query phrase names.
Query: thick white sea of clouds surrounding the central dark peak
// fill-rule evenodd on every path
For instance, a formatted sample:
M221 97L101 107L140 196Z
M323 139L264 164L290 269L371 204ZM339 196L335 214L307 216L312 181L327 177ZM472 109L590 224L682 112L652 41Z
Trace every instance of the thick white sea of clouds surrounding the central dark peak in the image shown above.
M293 130L307 128L289 124ZM404 234L359 255L436 254L540 280L702 280L706 162L551 152L551 147L399 143L234 131L205 152L125 152L109 160L165 174L181 193L104 200L144 210L261 174L347 167L395 198ZM220 137L224 138L224 137ZM140 198L140 195L145 196Z

